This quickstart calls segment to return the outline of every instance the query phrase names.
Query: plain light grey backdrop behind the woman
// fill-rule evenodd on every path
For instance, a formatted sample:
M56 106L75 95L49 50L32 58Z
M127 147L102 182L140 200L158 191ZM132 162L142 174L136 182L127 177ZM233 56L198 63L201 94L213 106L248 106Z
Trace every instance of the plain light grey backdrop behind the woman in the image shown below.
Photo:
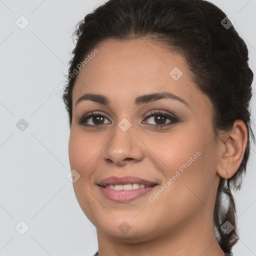
M212 2L234 21L256 73L256 1ZM98 249L95 227L80 209L66 176L69 126L62 91L52 99L46 95L65 79L76 23L101 3L0 0L2 256L90 256ZM255 119L255 79L253 92ZM235 194L240 230L235 256L256 255L255 151L252 145L242 189Z

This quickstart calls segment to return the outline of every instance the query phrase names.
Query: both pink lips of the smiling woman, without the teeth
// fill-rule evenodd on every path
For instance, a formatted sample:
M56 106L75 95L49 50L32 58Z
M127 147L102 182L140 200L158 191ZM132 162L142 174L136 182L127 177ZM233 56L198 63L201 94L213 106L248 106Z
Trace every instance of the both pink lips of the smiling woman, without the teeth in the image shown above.
M124 185L128 183L144 184L145 186L150 187L132 190L114 190L111 188L104 187L105 185ZM134 176L111 176L102 179L97 185L99 185L101 192L106 198L116 202L126 202L148 193L155 187L155 185L157 185L157 183Z

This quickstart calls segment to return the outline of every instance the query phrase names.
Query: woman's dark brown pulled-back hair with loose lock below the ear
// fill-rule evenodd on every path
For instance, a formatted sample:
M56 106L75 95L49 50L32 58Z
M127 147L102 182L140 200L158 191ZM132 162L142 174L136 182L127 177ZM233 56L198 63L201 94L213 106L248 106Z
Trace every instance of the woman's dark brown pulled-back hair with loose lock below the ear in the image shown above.
M248 50L234 27L224 24L230 24L226 14L205 0L108 0L77 24L63 100L71 127L72 89L77 76L74 69L104 40L148 38L163 42L166 50L169 47L180 52L198 89L213 103L215 135L217 129L230 130L237 119L248 131L243 160L232 177L220 177L214 206L215 235L221 249L229 252L238 240L231 189L240 188L250 138L255 138L250 126L253 73L248 67ZM221 228L225 221L234 226L229 233Z

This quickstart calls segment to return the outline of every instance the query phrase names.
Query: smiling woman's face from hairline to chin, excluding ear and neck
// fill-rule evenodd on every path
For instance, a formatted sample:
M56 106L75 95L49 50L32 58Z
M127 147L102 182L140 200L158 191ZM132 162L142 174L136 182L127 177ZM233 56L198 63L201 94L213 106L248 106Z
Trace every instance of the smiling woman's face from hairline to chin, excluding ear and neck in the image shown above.
M184 58L163 44L107 40L96 49L72 94L69 160L80 207L98 234L126 241L175 234L181 226L205 229L219 181L210 100L196 89ZM81 98L87 93L108 102ZM99 186L112 176L156 185ZM113 182L115 189L132 187Z

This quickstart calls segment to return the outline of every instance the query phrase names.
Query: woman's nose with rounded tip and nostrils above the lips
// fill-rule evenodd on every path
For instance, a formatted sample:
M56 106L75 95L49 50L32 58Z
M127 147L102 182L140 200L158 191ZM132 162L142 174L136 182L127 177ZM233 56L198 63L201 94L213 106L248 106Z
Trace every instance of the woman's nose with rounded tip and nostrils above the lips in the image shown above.
M103 159L107 163L122 166L129 162L139 162L143 158L143 143L132 127L123 131L118 125L113 128L111 138L103 149ZM142 139L141 139L142 140Z

